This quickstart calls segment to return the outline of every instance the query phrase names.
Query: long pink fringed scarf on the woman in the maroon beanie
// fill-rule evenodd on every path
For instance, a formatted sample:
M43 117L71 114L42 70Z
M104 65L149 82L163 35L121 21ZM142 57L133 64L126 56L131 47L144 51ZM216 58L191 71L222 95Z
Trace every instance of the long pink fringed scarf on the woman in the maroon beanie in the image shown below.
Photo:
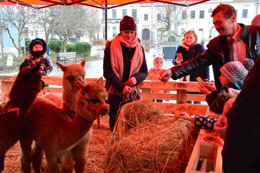
M120 35L116 35L113 41L111 42L110 46L110 54L111 54L111 66L114 75L116 75L120 80L122 80L123 76L123 68L124 68L124 62L123 62L123 54L122 54L122 49L121 49L121 43L127 47L127 48L135 48L135 53L132 57L131 60L131 66L130 66L130 71L129 71L129 78L133 75L138 73L142 63L143 63L143 50L138 42L137 35L135 34L135 38L133 39L132 42L128 43L124 40L124 38ZM132 88L132 95L131 99L135 99L136 95L134 95L134 91L137 91L136 93L139 95L140 94L140 88L137 85L136 87L133 86ZM122 93L119 93L118 91L115 90L113 86L110 86L109 90L107 91L108 93L111 94L116 94L119 96L123 96L123 100L129 99L129 94L128 95L123 95Z

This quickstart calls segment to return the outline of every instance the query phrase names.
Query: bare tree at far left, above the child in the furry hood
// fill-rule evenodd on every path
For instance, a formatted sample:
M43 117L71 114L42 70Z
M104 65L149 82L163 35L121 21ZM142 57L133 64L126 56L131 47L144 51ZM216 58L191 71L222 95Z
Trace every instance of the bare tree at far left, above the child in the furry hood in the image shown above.
M34 9L23 5L1 5L0 10L2 32L8 32L14 47L18 51L18 57L21 58L21 41L24 36L25 25L30 25L34 21ZM17 30L17 44L13 38L10 28L14 27Z

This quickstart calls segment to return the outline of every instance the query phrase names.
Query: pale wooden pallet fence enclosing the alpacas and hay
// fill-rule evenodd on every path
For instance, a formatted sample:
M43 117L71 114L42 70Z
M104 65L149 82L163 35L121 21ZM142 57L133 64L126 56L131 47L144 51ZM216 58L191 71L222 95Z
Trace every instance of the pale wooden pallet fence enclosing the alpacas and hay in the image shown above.
M13 82L16 79L16 75L0 75L1 82L1 93L0 102L5 104L8 100L8 93L13 86ZM60 76L42 76L42 80L45 84L49 84L50 87L45 87L38 94L42 96L43 93L62 93L62 77ZM87 82L96 82L97 78L86 78ZM105 80L103 86L105 86ZM213 85L214 83L210 83ZM176 110L180 112L187 112L189 115L210 115L214 117L219 117L218 114L212 113L208 105L206 104L186 104L186 101L203 101L205 102L205 95L193 95L187 94L190 92L199 92L198 82L179 82L179 81L168 81L163 83L161 81L143 81L140 83L141 97L142 99L162 99L171 100L170 102L154 103L155 106L164 111L165 114L174 114ZM171 91L171 93L152 93L151 90L164 90ZM176 102L176 103L172 103ZM102 126L109 126L108 116L103 116L101 118ZM214 171L215 173L222 172L222 157L221 150L222 146L218 145L216 137L216 132L213 134L206 134L205 130L201 130L197 142L194 146L192 156L186 173L192 173L196 171L197 163L200 158L203 158L203 164L200 172L203 171ZM205 140L205 137L211 138L213 141L209 142Z

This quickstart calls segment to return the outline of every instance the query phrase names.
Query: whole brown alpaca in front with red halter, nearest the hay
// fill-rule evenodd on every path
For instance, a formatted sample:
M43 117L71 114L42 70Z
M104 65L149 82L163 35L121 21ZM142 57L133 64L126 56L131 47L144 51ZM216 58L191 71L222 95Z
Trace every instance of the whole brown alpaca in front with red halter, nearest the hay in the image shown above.
M31 107L30 119L20 140L23 172L31 172L33 140L45 151L45 172L59 172L57 155L76 146L92 129L97 115L108 114L109 105L105 103L108 94L103 87L103 77L99 78L97 84L77 82L81 89L76 103L77 115L73 120L55 103L43 97L38 97ZM96 113L93 109L96 109Z

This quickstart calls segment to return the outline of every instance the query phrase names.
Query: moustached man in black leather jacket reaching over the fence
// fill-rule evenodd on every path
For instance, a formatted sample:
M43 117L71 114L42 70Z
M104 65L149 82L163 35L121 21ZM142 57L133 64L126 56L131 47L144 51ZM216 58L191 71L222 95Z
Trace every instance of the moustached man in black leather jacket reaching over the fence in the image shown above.
M230 62L228 40L234 38L236 51L234 56L235 61L242 62L245 58L256 61L260 54L260 25L246 26L237 23L237 13L233 6L228 4L218 5L212 12L213 23L219 36L210 40L203 54L200 54L193 59L176 65L170 69L161 71L163 77L161 81L167 82L170 77L177 80L181 77L195 73L205 67L212 65L217 91L220 91L221 76L220 68L227 62ZM241 49L242 48L242 49ZM238 51L239 50L239 51Z

